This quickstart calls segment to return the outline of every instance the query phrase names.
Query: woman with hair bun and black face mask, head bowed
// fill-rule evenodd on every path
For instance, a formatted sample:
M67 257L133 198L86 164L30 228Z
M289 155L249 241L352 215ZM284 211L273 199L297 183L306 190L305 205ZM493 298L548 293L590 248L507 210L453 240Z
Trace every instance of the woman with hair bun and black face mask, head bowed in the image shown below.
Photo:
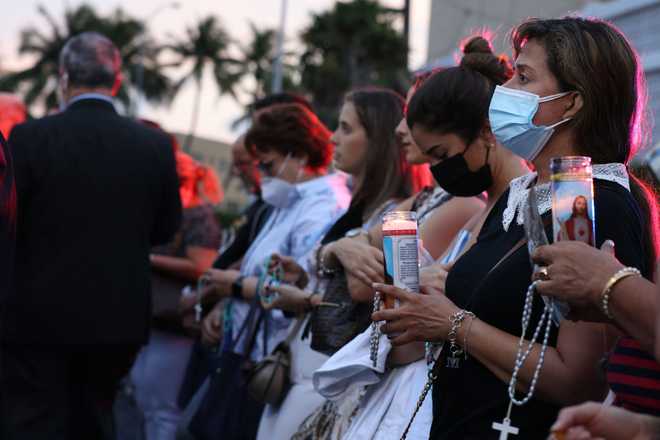
M411 126L411 117L420 118L423 115L429 126L437 127L438 132L442 133L435 146L428 142L420 143L413 126L412 140L419 146L420 154L431 163L431 172L438 185L454 196L451 202L466 202L483 192L489 196L486 207L482 205L471 219L467 218L470 220L465 225L461 224L454 230L452 236L461 226L468 236L470 233L474 236L494 200L506 189L509 181L528 172L519 158L495 145L493 135L486 126L492 90L496 84L506 81L510 73L511 68L506 60L496 57L483 37L473 37L464 47L464 57L459 67L434 73L410 99L406 129ZM422 137L421 140L425 139ZM446 159L444 150L439 151L448 147L458 153L453 160ZM438 210L443 210L451 202ZM449 228L447 224L445 229ZM425 234L424 228L420 229L425 246L444 239L438 232ZM441 252L436 255L440 257L438 260L460 247L451 246L451 242L449 238L442 246ZM422 289L424 291L428 286L422 284ZM426 312L420 316L424 315ZM366 336L361 335L362 340ZM363 359L369 358L369 348L365 347L364 342L360 343L356 338L351 344L356 349L362 349L364 353L361 357L340 352L336 359L328 361L315 375L318 384L329 396L336 393L343 382L350 381L351 377L347 378L347 374L352 375L353 382L346 387L337 403L342 417L335 424L346 425L339 438L400 438L406 432L407 439L427 439L433 417L430 396L407 429L427 382L429 365L424 344L413 342L391 347L389 340L381 336L377 366L363 363ZM340 360L340 355L347 360ZM333 360L334 365L331 365ZM346 364L350 364L350 369ZM350 405L350 401L356 398L358 404ZM332 399L337 399L337 396L332 396ZM349 408L355 408L354 411L346 409L347 402Z

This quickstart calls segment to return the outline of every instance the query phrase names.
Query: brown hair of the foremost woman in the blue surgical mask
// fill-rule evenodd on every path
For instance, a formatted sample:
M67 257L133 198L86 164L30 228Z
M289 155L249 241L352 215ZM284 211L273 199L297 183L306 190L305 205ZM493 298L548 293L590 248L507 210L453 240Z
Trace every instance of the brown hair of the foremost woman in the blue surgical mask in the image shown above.
M580 17L528 20L511 34L514 56L528 40L541 44L561 91L577 91L583 106L569 121L579 154L594 164L628 164L645 140L646 86L635 50L611 24ZM658 254L658 205L652 190L630 175L631 192L646 221L649 268Z

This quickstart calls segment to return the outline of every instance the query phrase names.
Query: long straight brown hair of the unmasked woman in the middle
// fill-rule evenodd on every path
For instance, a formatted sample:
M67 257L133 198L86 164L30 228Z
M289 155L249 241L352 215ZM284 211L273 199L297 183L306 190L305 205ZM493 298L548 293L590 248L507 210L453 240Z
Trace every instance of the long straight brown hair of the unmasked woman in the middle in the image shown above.
M344 100L355 107L369 144L364 164L366 177L351 202L363 205L363 218L367 219L386 201L413 193L411 166L394 134L403 118L404 100L391 90L377 87L352 91Z

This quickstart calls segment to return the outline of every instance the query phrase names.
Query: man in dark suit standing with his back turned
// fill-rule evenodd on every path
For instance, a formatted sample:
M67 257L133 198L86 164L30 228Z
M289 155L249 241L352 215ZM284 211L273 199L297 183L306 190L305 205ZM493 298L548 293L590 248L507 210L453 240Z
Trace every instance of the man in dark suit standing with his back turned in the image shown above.
M181 221L169 139L120 117L121 60L96 33L60 54L63 111L14 128L15 292L0 295L0 438L112 435L146 343L151 246Z

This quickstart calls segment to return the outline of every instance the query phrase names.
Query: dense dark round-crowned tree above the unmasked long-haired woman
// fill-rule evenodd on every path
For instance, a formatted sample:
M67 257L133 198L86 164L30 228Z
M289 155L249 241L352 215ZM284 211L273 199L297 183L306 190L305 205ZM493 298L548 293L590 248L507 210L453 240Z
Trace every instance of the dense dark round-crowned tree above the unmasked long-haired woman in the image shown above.
M301 84L329 126L348 90L380 85L405 91L408 45L394 25L398 15L376 0L336 2L303 30Z

